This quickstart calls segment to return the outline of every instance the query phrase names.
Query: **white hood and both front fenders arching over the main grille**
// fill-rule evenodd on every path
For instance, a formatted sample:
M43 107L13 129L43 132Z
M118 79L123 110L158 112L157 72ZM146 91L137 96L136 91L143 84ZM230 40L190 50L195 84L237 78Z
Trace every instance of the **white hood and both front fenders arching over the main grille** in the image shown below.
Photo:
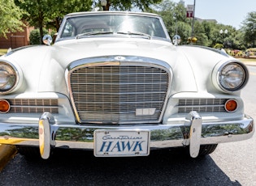
M171 95L212 89L212 69L219 61L227 61L227 56L209 49L174 46L164 40L107 37L63 40L52 46L29 47L6 58L16 61L25 71L24 78L29 79L26 91L37 88L37 91L67 94L65 70L69 64L87 57L106 56L150 57L165 61L172 72Z

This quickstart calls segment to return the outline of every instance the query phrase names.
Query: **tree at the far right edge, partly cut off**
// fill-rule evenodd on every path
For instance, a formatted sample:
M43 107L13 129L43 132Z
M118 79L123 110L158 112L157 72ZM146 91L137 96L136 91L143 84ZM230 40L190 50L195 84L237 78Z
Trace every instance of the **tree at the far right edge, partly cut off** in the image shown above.
M244 32L244 38L249 47L256 45L256 11L249 12L242 22L241 30Z

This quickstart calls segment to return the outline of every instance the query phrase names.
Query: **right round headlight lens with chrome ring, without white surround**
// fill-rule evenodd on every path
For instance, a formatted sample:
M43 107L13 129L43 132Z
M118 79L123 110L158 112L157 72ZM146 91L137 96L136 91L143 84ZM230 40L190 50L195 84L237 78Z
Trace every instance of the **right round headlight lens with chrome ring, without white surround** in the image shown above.
M223 91L239 91L248 81L248 70L240 63L231 62L219 68L217 78Z

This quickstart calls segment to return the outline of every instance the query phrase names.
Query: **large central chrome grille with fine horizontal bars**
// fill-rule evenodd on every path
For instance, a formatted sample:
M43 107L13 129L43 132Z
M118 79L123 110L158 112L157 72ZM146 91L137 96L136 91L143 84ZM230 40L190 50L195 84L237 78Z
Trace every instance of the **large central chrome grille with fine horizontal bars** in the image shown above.
M167 71L150 66L85 66L70 75L80 122L158 122L168 84ZM145 112L150 109L154 113Z

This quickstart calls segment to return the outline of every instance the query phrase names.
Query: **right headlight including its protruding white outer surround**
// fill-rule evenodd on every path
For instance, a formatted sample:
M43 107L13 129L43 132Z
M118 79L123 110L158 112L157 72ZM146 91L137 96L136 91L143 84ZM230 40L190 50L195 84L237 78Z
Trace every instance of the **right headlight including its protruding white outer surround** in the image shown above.
M219 91L240 91L249 80L249 71L240 61L220 62L215 66L212 81Z

